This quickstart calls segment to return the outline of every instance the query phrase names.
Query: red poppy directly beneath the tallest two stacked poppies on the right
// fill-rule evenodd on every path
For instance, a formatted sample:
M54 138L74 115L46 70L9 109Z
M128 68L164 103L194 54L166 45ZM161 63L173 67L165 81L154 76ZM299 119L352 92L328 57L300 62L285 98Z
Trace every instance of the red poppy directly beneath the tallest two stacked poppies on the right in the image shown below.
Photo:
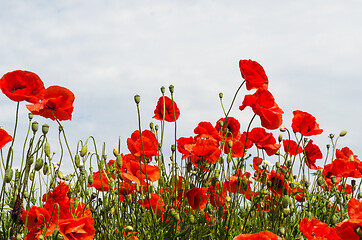
M268 156L274 155L280 148L280 144L276 143L272 133L267 133L264 128L253 128L248 138L257 148L264 149Z

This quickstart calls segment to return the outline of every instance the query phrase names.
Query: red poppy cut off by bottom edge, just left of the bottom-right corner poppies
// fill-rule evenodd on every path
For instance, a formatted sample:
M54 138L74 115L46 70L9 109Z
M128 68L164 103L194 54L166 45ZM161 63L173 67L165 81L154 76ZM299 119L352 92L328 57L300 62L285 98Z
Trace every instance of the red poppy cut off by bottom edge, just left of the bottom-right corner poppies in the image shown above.
M301 231L304 236L309 239L320 239L320 240L339 240L334 228L328 226L328 224L321 222L316 218L309 220L308 218L303 218L300 221L299 231Z

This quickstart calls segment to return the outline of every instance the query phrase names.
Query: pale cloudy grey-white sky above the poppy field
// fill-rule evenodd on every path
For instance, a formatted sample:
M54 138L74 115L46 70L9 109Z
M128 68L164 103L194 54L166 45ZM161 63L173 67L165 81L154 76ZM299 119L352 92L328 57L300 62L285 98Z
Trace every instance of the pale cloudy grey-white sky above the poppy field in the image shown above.
M72 151L78 140L94 136L110 156L119 137L128 153L127 138L138 129L134 95L141 96L146 129L158 123L152 117L160 87L174 85L181 111L177 137L189 137L199 122L223 117L219 92L229 106L242 82L238 62L252 59L264 67L286 127L294 110L306 111L324 130L312 137L323 154L328 135L347 130L338 147L360 155L361 9L362 2L353 0L0 0L0 75L28 70L46 87L70 89L76 97L73 118L62 124ZM251 93L242 88L230 114L242 131L252 111L238 106ZM15 107L0 94L0 125L9 133ZM21 103L20 147L27 113ZM34 120L50 125L56 149L56 124ZM173 125L166 131L171 143Z

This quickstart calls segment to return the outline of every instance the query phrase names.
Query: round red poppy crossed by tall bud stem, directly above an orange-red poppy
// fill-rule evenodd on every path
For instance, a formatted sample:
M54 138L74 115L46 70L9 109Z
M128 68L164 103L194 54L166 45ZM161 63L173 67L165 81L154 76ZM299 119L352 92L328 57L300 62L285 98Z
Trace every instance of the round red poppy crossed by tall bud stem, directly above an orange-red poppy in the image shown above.
M142 131L142 143L146 159L150 159L158 155L158 141L153 132L150 130ZM139 130L134 131L131 138L127 139L127 146L133 156L142 158L143 160L143 149Z

